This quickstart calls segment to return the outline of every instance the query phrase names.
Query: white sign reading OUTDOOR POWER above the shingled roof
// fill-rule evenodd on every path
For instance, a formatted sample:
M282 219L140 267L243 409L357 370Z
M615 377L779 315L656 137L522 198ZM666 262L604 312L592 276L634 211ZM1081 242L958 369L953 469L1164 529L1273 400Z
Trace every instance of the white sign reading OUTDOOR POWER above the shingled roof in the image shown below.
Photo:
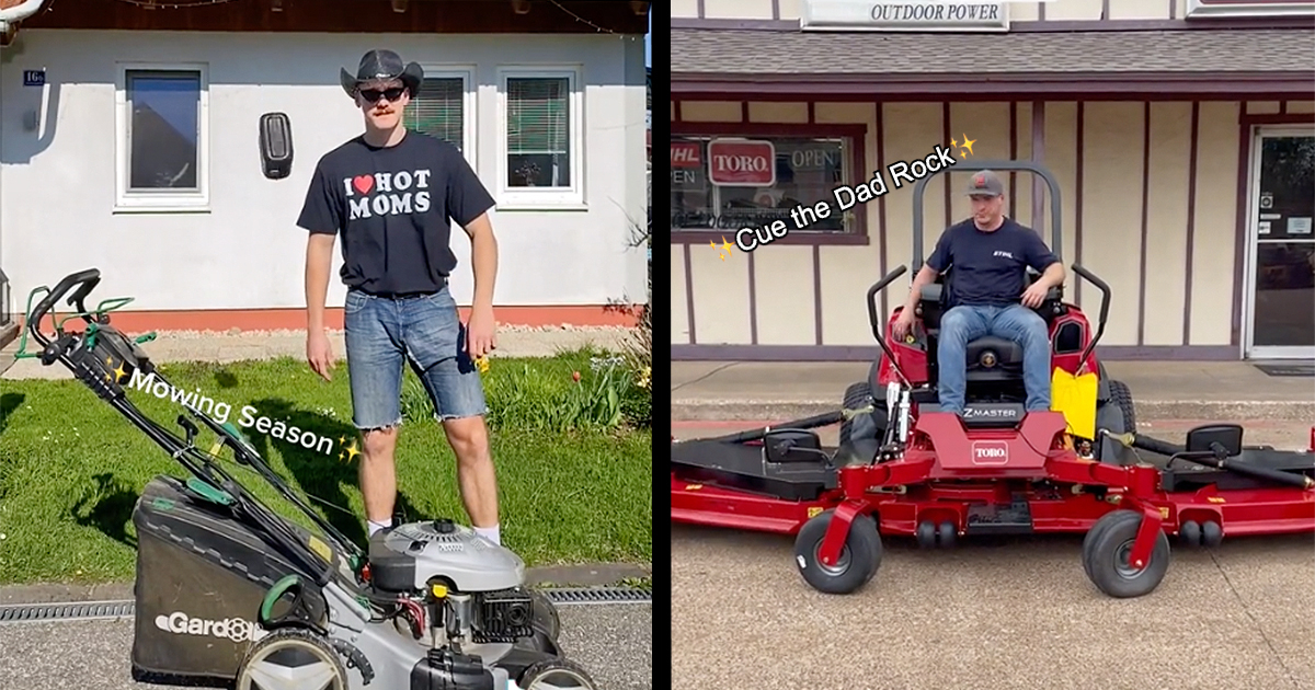
M1009 1L801 0L803 30L1007 32ZM1043 0L1044 1L1044 0Z

